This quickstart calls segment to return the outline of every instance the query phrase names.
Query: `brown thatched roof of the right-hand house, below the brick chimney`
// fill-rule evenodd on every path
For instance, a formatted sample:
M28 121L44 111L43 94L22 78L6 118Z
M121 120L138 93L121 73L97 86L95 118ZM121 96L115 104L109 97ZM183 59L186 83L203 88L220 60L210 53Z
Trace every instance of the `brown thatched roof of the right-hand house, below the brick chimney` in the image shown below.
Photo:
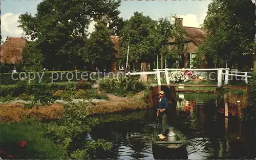
M195 45L199 46L207 36L207 33L200 28L194 28L190 26L181 26L187 32L187 36L185 37L186 41L192 41ZM170 38L167 43L174 43L175 38Z

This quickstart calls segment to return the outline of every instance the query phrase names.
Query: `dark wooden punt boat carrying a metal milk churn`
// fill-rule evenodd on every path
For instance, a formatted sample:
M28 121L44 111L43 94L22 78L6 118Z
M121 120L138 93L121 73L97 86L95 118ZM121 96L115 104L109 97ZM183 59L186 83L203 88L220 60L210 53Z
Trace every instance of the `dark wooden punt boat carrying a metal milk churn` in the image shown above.
M167 128L171 126L167 125ZM175 129L177 135L177 141L169 142L166 139L159 139L157 129L152 135L152 151L154 158L157 159L168 159L178 158L187 159L187 138L181 131Z

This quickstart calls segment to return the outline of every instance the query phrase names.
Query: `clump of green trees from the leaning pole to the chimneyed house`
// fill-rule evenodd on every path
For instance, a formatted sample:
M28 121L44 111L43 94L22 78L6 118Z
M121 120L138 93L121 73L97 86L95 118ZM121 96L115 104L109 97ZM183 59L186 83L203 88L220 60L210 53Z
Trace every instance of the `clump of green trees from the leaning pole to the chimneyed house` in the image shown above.
M176 26L168 18L160 18L156 21L142 13L135 12L129 20L125 21L120 35L120 60L126 61L129 36L129 62L139 62L140 60L152 62L158 54L166 55L167 59L170 58L171 50L166 42L170 37L177 36L180 39L182 34L178 33L183 31L178 29L180 29L179 26ZM177 49L177 47L174 48Z

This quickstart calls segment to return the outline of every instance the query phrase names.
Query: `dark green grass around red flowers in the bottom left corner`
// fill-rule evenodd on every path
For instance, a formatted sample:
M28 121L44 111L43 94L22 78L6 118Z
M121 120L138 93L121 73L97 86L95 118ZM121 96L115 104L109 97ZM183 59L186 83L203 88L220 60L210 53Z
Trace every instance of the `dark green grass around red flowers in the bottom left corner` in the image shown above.
M65 147L45 137L38 123L1 123L1 149L13 159L65 159ZM16 142L27 141L26 147L17 147ZM5 156L1 156L5 158Z

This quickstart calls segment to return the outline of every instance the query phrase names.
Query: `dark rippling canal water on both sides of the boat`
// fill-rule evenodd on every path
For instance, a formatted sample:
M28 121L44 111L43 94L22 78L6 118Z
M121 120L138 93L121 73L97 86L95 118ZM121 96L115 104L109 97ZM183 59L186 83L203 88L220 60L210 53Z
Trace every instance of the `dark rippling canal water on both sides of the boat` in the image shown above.
M217 113L216 95L179 93L177 98L176 116L169 116L168 124L188 138L188 159L256 158L255 124L241 124ZM154 159L154 115L154 110L146 110L99 117L101 123L86 138L109 140L113 149L98 152L96 158Z

